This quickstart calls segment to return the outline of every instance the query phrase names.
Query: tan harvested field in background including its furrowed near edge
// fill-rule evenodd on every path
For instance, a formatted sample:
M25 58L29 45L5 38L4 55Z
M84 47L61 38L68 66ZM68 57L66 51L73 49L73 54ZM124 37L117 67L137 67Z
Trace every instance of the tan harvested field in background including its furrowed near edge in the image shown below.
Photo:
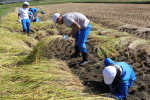
M55 12L80 12L91 21L150 39L150 4L68 3L38 6L46 9L43 19ZM36 6L35 6L36 7ZM38 8L37 7L37 8Z

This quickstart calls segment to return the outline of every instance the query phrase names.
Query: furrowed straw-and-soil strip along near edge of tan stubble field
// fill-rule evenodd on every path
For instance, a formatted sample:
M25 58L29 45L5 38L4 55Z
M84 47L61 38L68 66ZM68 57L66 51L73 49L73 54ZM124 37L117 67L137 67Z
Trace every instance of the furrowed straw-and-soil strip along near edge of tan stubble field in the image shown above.
M106 28L116 29L120 32L128 32L140 38L150 40L150 26L140 27L136 25L126 24L119 21L103 20L99 21Z

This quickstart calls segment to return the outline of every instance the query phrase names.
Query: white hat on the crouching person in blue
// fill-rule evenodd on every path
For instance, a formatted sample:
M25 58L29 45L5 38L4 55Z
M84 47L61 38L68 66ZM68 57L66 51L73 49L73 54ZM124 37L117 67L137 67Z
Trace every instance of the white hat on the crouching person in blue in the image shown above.
M114 66L107 66L103 70L104 82L111 84L117 74L117 70Z

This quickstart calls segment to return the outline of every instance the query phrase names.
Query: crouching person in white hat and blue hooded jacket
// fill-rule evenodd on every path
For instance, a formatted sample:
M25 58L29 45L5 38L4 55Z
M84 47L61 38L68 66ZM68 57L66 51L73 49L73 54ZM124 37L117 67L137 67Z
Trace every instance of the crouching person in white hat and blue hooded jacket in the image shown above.
M103 70L104 82L110 87L110 92L116 98L125 99L128 89L136 80L136 75L132 67L126 62L114 62L110 58L104 60Z

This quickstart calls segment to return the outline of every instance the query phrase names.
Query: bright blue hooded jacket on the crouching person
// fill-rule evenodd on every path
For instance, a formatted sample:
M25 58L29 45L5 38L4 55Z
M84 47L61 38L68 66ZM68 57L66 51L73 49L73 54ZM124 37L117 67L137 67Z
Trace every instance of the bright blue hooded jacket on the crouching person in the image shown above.
M128 89L132 86L132 83L136 80L136 75L132 69L132 67L125 62L114 62L110 58L106 58L104 60L104 65L109 66L111 64L119 65L122 68L122 81L117 85L119 92L115 94L119 99L123 99L127 97Z

